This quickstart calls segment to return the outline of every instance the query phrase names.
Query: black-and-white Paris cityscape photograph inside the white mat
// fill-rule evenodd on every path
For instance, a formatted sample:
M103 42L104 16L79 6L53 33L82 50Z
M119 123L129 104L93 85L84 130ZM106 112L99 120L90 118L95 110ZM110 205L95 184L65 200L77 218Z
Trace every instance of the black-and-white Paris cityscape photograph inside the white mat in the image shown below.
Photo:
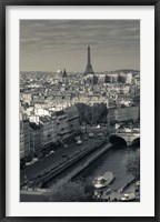
M19 34L20 202L140 202L140 20Z

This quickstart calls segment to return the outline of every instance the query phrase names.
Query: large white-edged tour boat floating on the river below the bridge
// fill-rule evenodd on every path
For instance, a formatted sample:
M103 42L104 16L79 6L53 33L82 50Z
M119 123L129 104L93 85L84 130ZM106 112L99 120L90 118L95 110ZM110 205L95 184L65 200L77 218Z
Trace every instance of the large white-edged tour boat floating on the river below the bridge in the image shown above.
M93 179L92 183L94 185L94 188L99 189L99 188L104 188L107 185L109 185L114 179L114 175L112 172L106 172L102 175Z

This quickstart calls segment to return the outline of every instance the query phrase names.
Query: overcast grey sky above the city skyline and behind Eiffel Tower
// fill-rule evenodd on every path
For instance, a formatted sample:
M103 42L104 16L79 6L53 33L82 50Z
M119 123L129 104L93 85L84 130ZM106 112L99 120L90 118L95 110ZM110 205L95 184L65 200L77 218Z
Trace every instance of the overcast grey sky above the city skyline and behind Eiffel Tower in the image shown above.
M140 69L139 20L21 20L21 71Z

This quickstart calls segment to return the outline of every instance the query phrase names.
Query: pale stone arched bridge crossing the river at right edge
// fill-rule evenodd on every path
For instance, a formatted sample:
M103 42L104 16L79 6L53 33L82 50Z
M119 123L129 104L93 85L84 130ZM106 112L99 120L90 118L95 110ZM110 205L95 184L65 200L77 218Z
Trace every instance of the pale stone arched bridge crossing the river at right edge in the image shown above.
M140 133L132 133L132 132L118 132L113 133L109 137L109 141L111 143L114 142L124 142L127 145L133 145L137 142L140 142Z

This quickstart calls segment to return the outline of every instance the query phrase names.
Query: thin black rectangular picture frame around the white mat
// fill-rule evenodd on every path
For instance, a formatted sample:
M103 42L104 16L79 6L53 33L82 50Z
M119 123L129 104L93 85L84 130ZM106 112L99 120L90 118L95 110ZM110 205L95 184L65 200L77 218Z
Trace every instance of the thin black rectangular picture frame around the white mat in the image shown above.
M6 216L6 7L7 6L153 6L154 7L154 216ZM160 221L160 0L0 0L0 221Z

